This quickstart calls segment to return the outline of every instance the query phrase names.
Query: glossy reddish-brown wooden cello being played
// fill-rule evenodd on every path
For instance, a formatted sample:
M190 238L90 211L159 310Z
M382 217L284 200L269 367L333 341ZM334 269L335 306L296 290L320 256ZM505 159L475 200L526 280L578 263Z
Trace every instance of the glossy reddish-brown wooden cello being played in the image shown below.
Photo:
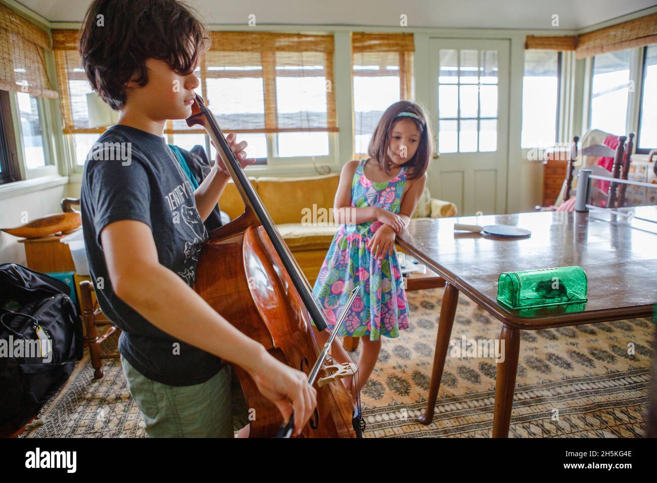
M242 215L210 232L199 254L194 290L238 330L263 344L269 354L309 375L309 382L317 390L317 407L302 429L302 436L361 436L363 420L353 418L351 395L338 380L355 373L357 367L330 363L326 357L330 342L323 350L319 347L311 320L322 331L327 327L327 317L214 115L198 94L187 125L206 130L245 206ZM279 409L260 394L250 375L237 365L233 369L250 408L249 436L289 436L294 415L284 422ZM323 377L316 379L321 371Z

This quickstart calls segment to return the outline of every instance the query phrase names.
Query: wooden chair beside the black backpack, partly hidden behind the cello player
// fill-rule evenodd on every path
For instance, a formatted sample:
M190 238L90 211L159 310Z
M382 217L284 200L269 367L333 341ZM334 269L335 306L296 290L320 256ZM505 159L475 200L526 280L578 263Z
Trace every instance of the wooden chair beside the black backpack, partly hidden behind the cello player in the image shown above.
M88 280L79 283L80 309L82 320L87 327L87 343L89 344L89 356L93 367L93 379L102 379L102 359L118 359L119 353L101 354L101 344L116 331L120 331L98 307L91 294L94 292L93 285ZM109 326L109 327L108 327ZM98 327L105 327L101 336L98 335Z

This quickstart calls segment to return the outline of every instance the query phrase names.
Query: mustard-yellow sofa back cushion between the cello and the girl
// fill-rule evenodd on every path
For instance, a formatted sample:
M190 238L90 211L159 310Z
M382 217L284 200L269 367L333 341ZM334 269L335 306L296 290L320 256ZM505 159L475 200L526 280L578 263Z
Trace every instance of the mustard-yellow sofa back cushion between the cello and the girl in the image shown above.
M300 223L304 214L332 218L339 174L308 177L260 177L258 195L274 223ZM313 208L315 205L315 208ZM325 211L324 211L325 210Z

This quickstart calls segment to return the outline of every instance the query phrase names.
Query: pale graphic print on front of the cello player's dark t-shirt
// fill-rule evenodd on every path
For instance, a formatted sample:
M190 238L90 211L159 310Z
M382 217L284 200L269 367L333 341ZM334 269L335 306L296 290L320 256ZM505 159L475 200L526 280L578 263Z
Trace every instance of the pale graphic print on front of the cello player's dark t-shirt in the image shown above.
M193 196L194 189L188 180L172 189L165 196L171 209L173 222L185 230L184 267L178 271L178 275L190 286L194 284L196 279L198 252L200 252L201 244L205 239L205 227L196 209L196 204L194 204ZM183 223L180 222L181 219Z

